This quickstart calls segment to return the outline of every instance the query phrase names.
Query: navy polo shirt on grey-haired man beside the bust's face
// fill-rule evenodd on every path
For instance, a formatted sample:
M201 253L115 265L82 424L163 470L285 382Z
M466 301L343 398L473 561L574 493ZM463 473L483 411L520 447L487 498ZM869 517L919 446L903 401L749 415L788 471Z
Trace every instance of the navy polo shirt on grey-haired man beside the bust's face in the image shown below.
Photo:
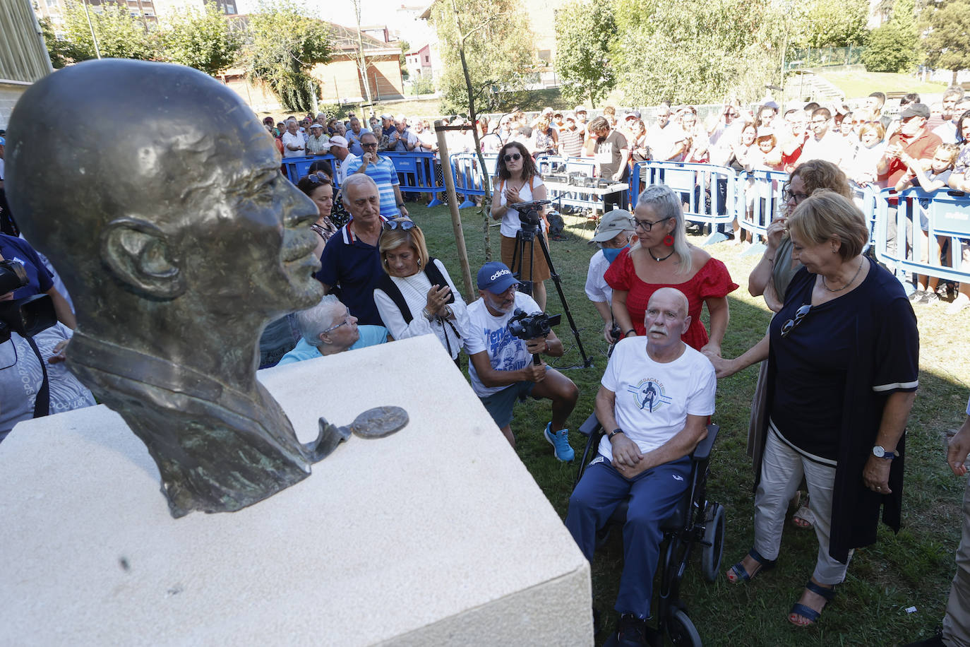
M383 221L385 218L381 217ZM350 223L347 223L327 241L320 255L320 264L322 267L316 273L316 279L331 286L360 325L384 325L373 303L373 288L384 274L376 246L354 236Z

